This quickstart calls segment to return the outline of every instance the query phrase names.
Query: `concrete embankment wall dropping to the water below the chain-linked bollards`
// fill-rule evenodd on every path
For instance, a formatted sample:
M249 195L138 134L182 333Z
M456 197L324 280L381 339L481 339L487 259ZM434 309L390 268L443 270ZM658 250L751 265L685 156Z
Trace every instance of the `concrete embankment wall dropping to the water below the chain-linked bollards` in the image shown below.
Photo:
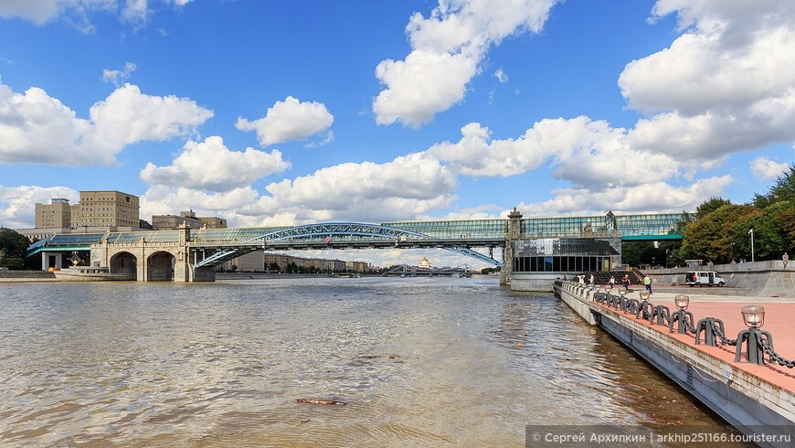
M578 315L616 337L741 431L753 427L750 432L781 433L786 426L786 433L795 432L792 391L668 336L667 328L662 332L634 316L594 304L593 293L576 283L558 282L555 292Z

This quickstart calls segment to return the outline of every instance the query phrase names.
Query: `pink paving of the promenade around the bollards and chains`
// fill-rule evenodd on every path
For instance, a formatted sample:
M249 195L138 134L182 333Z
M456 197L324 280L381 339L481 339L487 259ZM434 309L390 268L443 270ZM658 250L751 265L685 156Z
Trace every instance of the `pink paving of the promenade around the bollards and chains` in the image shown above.
M773 348L780 357L787 360L795 360L795 303L766 303L757 302L758 299L747 300L747 302L736 302L737 298L727 298L727 301L698 302L698 297L690 295L691 302L687 311L693 313L695 322L705 317L716 317L721 319L726 327L726 337L735 339L740 330L746 329L743 324L743 317L740 310L747 304L762 305L765 307L765 324L762 326L763 330L770 332L773 336ZM742 299L740 299L742 300ZM652 294L650 299L652 304L664 304L671 309L672 313L676 311L676 306L673 304L673 294ZM610 310L612 310L610 308ZM612 310L615 311L615 310ZM619 314L620 311L618 312ZM795 368L787 368L784 366L770 365L758 366L745 362L745 350L743 350L743 357L741 362L735 362L734 346L722 346L718 343L718 347L709 347L705 345L696 346L694 343L694 336L679 335L677 333L669 333L667 326L651 325L648 321L642 319L635 319L634 316L624 315L628 319L639 322L643 325L649 326L655 331L662 333L666 336L673 337L683 342L689 343L691 346L696 347L699 351L707 355L720 358L741 370L757 376L760 379L765 379L768 382L779 386L783 389L795 391ZM675 331L675 326L674 326ZM702 338L703 339L703 338ZM745 348L745 347L743 347ZM765 362L768 363L769 357L765 356Z

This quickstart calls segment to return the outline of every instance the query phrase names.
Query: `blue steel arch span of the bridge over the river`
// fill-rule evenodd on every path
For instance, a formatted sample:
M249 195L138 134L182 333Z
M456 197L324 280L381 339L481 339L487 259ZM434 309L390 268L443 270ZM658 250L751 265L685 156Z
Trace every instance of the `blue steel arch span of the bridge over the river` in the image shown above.
M306 249L444 249L470 256L494 266L493 248L503 247L504 239L438 239L416 231L377 224L331 222L278 229L247 240L202 240L191 244L194 267L219 264L259 249L292 251ZM489 248L489 255L472 247ZM207 255L207 252L209 254Z

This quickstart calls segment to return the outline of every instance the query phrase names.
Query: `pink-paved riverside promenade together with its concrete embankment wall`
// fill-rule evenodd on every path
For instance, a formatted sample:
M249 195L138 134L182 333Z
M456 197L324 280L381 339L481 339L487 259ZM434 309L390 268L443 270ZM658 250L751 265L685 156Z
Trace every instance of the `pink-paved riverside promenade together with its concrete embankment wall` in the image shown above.
M599 325L630 347L740 431L784 433L795 440L792 368L735 362L736 347L720 343L717 347L695 345L692 334L670 333L668 326L652 325L648 320L594 302L595 293L577 283L556 283L555 289L588 323ZM675 310L675 293L678 291L658 289L650 302ZM774 302L768 297L702 295L697 289L688 295L691 301L687 311L693 313L695 321L708 316L723 320L728 338L737 337L746 328L740 315L743 305L763 305L767 312L764 329L773 336L775 351L781 357L795 358L795 328L790 325L790 316L795 315L795 300L779 298ZM639 296L639 291L628 294L634 299Z

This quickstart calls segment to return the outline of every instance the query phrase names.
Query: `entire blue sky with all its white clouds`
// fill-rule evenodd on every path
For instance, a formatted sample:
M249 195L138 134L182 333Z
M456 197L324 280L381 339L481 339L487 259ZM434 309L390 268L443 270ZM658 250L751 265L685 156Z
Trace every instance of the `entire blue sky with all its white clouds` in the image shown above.
M0 0L7 228L105 189L247 227L676 213L793 144L791 0Z

